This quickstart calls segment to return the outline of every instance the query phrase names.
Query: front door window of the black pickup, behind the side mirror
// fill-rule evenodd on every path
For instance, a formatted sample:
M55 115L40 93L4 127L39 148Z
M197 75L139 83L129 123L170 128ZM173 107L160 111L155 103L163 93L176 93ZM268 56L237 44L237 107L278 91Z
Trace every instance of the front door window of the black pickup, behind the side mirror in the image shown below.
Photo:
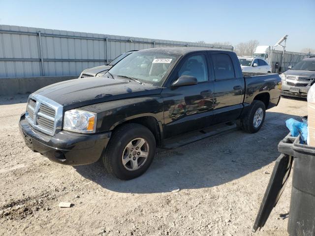
M208 81L208 67L204 55L195 55L187 58L178 71L178 77L190 75L196 77L198 82Z

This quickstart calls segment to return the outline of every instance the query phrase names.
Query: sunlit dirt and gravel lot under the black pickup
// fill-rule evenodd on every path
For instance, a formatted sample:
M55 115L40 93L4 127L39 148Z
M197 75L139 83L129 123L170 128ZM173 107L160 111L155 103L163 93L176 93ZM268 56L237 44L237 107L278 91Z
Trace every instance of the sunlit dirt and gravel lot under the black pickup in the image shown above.
M288 133L284 120L307 115L306 101L282 98L256 134L159 150L146 174L122 181L99 163L63 166L29 150L18 130L26 100L0 98L0 235L287 235L279 214L288 212L291 180L263 230L251 228Z

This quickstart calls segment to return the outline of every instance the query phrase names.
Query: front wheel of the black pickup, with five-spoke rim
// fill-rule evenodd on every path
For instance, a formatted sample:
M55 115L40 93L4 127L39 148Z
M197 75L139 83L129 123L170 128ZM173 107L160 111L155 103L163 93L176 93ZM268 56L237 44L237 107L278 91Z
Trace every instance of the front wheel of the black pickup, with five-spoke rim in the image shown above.
M144 144L140 147L142 142ZM138 144L140 145L137 146ZM128 180L146 172L155 152L156 140L153 133L141 124L130 123L113 132L102 159L107 172Z

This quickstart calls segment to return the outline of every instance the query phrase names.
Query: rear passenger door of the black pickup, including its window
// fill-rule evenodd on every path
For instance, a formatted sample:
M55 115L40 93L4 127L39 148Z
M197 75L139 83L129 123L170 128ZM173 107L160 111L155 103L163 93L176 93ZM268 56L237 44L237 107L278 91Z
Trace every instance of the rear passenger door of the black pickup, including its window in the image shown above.
M236 119L243 109L244 78L235 72L228 53L210 53L214 82L214 123ZM238 76L237 76L238 75Z

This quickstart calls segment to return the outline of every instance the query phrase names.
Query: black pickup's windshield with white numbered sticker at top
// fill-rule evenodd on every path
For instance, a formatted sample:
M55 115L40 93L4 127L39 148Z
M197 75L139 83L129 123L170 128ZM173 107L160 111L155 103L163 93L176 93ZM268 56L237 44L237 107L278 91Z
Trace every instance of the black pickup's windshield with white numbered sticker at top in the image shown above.
M131 77L144 84L162 86L180 55L139 51L119 61L109 70L114 77Z

